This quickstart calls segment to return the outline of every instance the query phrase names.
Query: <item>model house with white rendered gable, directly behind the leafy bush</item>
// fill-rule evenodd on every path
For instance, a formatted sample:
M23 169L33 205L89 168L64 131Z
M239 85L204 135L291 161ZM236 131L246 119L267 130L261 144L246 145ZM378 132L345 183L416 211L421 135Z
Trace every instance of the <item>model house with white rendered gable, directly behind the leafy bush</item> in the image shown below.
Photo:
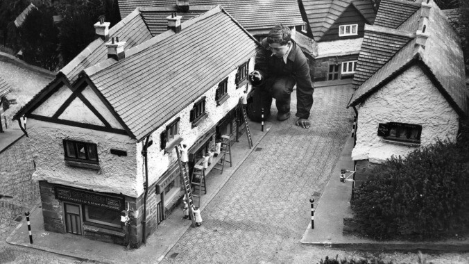
M353 83L357 166L454 142L468 114L461 44L432 0L381 1L375 25L364 28Z

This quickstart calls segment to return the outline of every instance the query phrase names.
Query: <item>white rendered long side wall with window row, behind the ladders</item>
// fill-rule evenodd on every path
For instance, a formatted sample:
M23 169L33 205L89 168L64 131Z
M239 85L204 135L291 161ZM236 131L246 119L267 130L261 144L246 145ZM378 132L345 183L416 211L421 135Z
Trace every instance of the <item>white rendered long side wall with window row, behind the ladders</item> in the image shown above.
M253 69L254 58L251 58L249 62L249 72L253 71ZM236 89L236 73L237 69L235 69L229 75L228 95L230 96L230 98L224 101L221 106L216 106L215 100L215 91L216 88L218 88L218 83L216 83L210 90L203 94L203 96L205 96L205 113L207 113L208 116L200 124L198 124L198 126L191 128L191 122L189 122L189 115L190 110L194 106L194 102L198 101L202 97L194 100L194 102L191 102L191 104L189 104L189 106L187 106L184 110L180 111L178 115L171 118L165 124L162 124L159 129L153 132L153 134L151 135L153 145L148 148L148 185L152 185L153 183L158 181L160 179L160 176L162 176L162 174L168 170L169 165L172 165L174 162L176 162L177 159L175 150L173 150L170 154L164 154L164 150L160 149L160 134L162 133L162 131L164 131L166 129L166 126L171 124L171 122L173 122L177 117L180 117L179 132L180 137L184 139L184 141L182 141L182 144L185 144L188 147L194 145L194 142L196 142L198 138L200 138L203 134L207 133L207 131L212 129L222 117L224 117L230 110L237 106L239 98L242 94L244 94L244 91L246 90L246 85L248 84ZM250 85L248 86L250 89ZM169 145L169 143L170 142L168 142L167 145ZM139 154L140 151L142 151L142 142L137 144L137 154ZM144 170L145 167L143 156L137 155L137 179L144 179ZM143 187L140 188L139 185L138 191L139 194L143 193Z

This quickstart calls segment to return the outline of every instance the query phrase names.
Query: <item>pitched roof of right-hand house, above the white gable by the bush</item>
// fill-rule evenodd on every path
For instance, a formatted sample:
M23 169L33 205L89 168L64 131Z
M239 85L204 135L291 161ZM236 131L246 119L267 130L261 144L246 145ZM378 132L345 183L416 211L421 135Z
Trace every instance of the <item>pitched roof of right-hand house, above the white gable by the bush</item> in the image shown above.
M384 1L386 0L381 3ZM430 3L432 8L429 10L429 17L423 19L425 33L428 34L425 48L417 44L416 38L410 40L359 86L350 99L349 106L356 106L366 100L370 94L382 88L385 83L395 79L400 74L400 70L406 69L409 65L420 63L427 69L425 72L429 78L434 80L438 90L457 113L467 115L468 99L461 44L457 33L447 22L445 15L434 2ZM422 9L420 8L418 12L421 12ZM418 20L413 16L408 19L418 23ZM403 27L412 28L409 25ZM419 29L421 31L423 28Z

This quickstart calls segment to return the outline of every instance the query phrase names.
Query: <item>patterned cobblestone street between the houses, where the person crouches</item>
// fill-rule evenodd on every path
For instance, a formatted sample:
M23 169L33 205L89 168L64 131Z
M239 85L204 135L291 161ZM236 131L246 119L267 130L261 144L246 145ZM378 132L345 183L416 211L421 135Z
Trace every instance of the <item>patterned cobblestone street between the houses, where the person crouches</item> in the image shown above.
M190 228L165 261L291 262L310 221L309 197L323 190L350 137L351 94L350 88L317 88L312 129L295 126L293 116L277 122L273 113L271 131L202 212L203 225ZM279 254L284 250L290 253Z

